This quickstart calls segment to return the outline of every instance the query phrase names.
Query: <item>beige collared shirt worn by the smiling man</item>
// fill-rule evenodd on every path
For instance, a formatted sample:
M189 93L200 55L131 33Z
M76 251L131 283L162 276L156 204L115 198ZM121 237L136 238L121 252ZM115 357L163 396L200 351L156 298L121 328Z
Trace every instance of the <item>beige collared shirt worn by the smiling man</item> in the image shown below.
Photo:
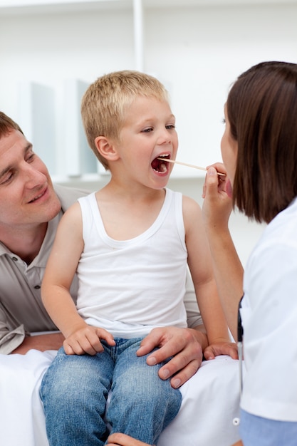
M62 186L55 186L55 190L62 210L48 222L46 237L31 264L27 265L0 242L0 353L11 353L26 334L57 330L41 302L41 281L63 212L87 192ZM75 277L71 287L74 299L76 293Z

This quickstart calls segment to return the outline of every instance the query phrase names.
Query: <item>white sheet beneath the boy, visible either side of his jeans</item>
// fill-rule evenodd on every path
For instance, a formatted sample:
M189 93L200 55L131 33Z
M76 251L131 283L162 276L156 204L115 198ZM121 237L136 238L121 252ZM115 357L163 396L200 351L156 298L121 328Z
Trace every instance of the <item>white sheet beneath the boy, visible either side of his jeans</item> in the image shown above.
M48 446L38 391L56 351L0 355L0 445ZM239 440L239 365L206 361L182 388L182 408L157 446L231 446Z

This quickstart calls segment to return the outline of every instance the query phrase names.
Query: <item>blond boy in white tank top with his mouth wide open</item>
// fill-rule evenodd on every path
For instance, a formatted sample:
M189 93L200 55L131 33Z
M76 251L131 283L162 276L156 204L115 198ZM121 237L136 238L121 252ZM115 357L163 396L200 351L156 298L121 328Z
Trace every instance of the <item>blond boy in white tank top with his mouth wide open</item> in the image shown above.
M113 432L156 444L181 403L178 390L137 357L156 326L187 326L187 264L209 343L233 346L219 304L201 209L166 189L177 133L164 86L121 71L95 81L82 101L90 147L110 170L108 185L61 219L42 297L66 341L41 385L50 445L103 445ZM163 160L159 160L162 157ZM77 272L75 305L69 286ZM85 388L84 402L75 398ZM90 403L91 402L91 403Z

